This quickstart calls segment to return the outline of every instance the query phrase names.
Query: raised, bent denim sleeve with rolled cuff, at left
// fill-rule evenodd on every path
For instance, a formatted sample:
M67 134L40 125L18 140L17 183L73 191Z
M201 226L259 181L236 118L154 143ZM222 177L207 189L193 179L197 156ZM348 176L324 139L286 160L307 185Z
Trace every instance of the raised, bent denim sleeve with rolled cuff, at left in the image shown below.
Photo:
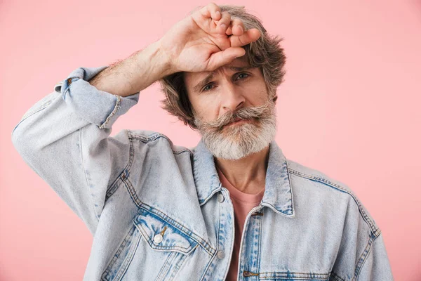
M79 67L35 103L12 132L25 162L95 233L107 190L128 163L126 131L109 136L112 124L138 103L89 84L105 67Z

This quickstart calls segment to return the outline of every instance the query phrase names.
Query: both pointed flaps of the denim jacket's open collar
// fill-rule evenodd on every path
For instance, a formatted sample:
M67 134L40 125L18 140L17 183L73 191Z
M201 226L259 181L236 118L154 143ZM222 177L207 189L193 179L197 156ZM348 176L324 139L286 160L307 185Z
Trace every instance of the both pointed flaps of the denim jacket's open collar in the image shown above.
M193 176L200 205L205 204L222 188L213 155L202 140L194 148ZM269 160L262 206L269 207L283 216L295 216L293 190L286 158L275 141L269 144Z

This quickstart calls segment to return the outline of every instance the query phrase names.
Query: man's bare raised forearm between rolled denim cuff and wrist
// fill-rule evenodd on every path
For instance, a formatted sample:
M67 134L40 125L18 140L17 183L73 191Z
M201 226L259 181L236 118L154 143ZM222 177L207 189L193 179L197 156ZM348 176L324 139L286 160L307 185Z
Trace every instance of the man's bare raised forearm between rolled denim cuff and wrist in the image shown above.
M159 41L156 41L126 60L102 70L89 83L98 90L126 97L174 72L171 60L159 48Z

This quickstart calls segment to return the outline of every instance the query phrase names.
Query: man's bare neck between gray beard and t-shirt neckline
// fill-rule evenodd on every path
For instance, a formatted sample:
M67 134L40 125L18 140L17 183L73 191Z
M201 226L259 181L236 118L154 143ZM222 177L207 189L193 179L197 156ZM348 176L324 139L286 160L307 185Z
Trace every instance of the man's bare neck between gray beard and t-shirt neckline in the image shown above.
M215 165L234 187L241 192L256 194L265 188L269 145L259 152L238 160L215 157Z

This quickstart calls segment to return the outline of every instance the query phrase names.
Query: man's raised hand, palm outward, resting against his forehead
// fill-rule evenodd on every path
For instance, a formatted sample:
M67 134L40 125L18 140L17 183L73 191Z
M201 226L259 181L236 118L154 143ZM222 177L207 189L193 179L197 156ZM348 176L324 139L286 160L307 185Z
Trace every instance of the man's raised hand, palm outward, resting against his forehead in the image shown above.
M260 37L259 30L245 30L243 22L221 13L214 3L195 11L174 25L159 40L175 72L212 71L246 53L241 48Z

